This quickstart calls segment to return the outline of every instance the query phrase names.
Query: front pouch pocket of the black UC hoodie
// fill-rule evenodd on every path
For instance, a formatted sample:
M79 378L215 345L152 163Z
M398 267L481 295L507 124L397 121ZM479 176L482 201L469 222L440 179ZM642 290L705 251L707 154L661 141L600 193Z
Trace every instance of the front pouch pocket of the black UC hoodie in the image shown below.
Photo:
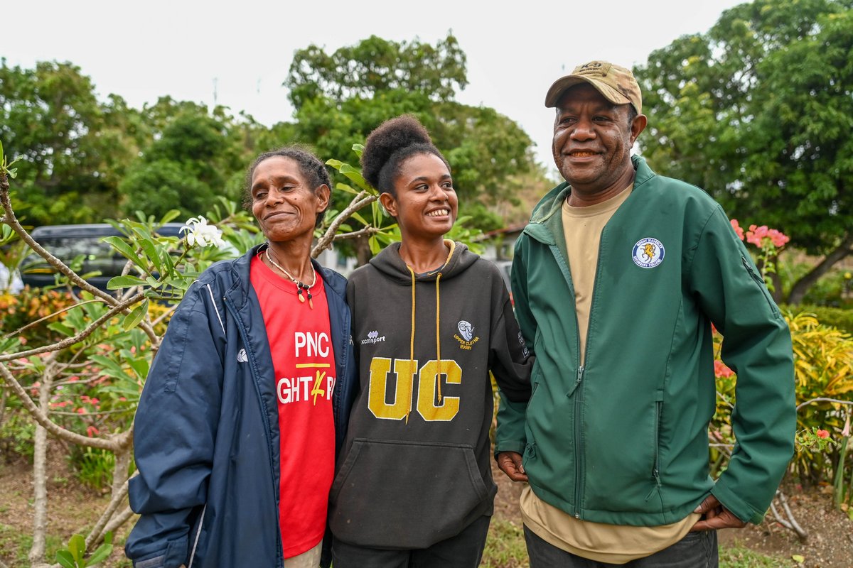
M427 548L488 513L495 493L470 445L357 438L332 485L329 525L358 546Z

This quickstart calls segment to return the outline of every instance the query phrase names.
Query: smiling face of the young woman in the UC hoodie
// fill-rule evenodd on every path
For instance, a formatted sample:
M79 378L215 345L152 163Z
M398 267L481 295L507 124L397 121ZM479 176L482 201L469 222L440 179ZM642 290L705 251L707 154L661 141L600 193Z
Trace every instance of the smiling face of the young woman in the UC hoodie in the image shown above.
M456 221L458 201L450 170L434 154L407 158L394 181L397 196L380 195L388 213L397 218L403 238L436 238Z

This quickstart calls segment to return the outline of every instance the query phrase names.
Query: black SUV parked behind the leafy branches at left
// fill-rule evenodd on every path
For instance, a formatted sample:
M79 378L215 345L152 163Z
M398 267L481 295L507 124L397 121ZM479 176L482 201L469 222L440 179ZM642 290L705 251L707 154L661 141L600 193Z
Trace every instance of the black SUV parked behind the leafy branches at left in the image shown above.
M164 237L179 237L181 223L166 223L158 234ZM102 242L105 237L122 237L122 233L107 223L92 225L46 225L32 230L32 238L41 244L50 254L69 264L79 255L83 255L83 267L80 274L99 271L100 276L87 278L87 282L104 291L110 278L119 276L125 267L124 256L113 247ZM24 284L33 288L55 284L56 270L41 256L33 253L20 265L20 278Z

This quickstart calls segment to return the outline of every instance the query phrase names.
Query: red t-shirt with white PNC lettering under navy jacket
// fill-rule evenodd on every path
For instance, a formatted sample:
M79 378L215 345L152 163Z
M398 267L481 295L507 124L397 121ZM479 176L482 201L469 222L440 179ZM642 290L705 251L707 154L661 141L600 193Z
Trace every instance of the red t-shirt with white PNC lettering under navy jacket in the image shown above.
M328 302L319 273L310 290L314 309L305 291L305 302L300 302L296 284L274 273L257 256L252 259L251 279L276 369L279 526L284 557L291 558L322 540L334 476L336 377Z

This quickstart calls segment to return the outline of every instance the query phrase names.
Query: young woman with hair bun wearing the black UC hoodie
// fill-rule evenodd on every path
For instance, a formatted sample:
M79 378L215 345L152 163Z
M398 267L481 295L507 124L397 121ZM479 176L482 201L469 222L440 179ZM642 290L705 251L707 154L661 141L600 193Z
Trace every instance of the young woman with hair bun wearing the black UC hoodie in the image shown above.
M334 568L474 568L496 493L489 372L524 399L532 360L496 266L444 238L456 192L421 123L382 123L362 166L402 241L346 288L359 386L331 492Z

